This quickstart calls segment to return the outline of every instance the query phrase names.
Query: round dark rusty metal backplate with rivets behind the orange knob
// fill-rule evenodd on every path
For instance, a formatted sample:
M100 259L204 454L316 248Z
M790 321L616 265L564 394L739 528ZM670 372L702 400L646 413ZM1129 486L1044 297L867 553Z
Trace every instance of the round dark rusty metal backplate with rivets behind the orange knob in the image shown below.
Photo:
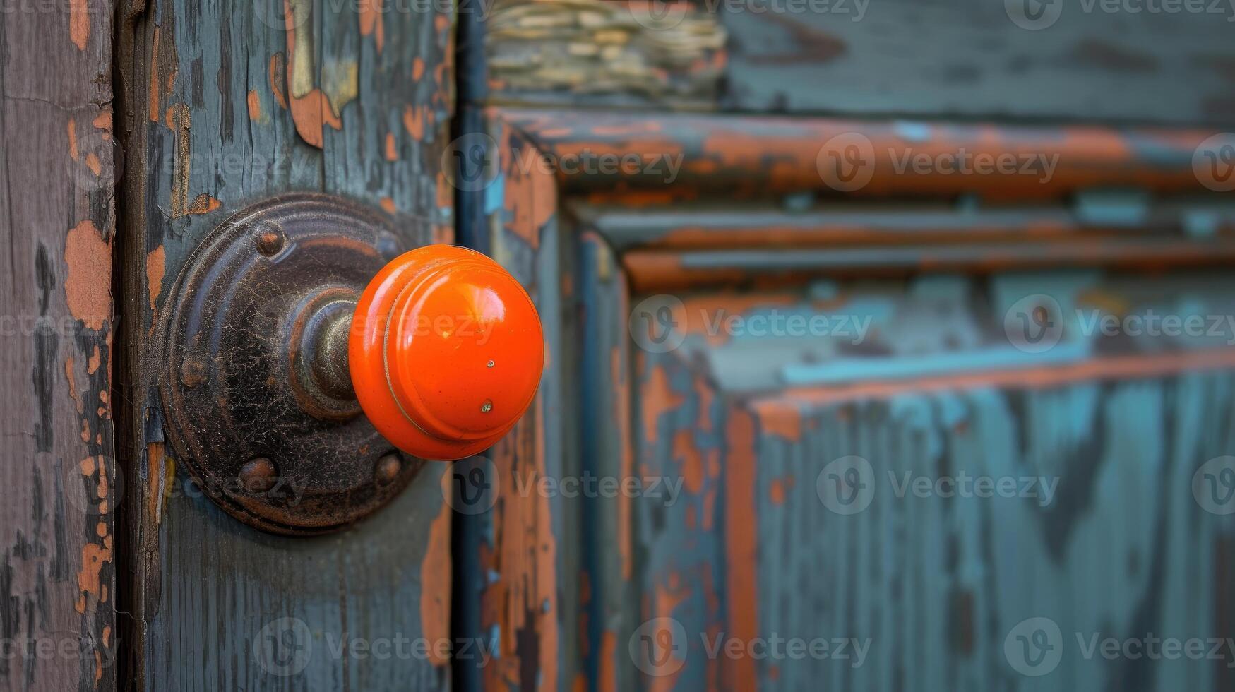
M354 302L400 250L380 214L296 194L225 221L180 272L162 318L167 430L177 461L233 517L280 534L331 531L422 465L354 400L315 389L299 347L324 306Z

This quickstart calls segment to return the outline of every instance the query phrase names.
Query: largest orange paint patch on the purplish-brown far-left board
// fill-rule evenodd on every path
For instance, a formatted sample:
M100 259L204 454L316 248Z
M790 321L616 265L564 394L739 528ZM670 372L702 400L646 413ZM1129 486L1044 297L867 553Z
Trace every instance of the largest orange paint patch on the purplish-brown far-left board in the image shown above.
M94 222L69 229L64 238L64 298L69 313L89 329L101 330L111 319L111 243Z

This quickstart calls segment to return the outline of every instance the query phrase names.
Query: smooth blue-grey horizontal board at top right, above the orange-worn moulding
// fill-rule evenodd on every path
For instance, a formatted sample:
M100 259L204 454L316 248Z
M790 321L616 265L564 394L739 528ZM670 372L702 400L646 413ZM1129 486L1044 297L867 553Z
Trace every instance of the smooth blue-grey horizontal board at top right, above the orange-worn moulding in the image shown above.
M1150 11L1145 4L1116 4L1142 11L1103 11L1109 5L716 2L731 36L722 108L1215 126L1233 121L1235 9L1203 2L1188 11ZM799 10L785 11L794 6ZM1204 11L1197 12L1198 6ZM1021 16L1020 7L1060 14L1045 28L1025 30L1010 19Z

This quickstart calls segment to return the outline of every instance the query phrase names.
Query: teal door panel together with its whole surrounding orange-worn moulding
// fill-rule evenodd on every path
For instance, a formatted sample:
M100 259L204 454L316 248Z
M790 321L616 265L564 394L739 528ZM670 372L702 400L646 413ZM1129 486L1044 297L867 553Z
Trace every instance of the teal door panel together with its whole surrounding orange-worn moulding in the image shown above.
M941 205L935 213L948 219L919 217L915 208L908 221L884 208L871 215L832 200L805 213L753 205L727 213L736 206L735 183L763 195L768 187L816 184L805 183L814 153L835 133L824 121L669 115L622 116L619 124L616 116L505 109L488 115L499 162L484 190L494 255L535 285L542 315L559 316L556 325L546 318L548 341L564 342L548 348L546 372L558 373L546 377L542 395L578 397L578 405L557 409L557 419L529 418L498 467L553 478L582 470L640 478L643 487L659 478L679 492L580 505L535 492L498 500L482 560L493 568L487 594L501 609L485 623L504 643L511 631L527 639L504 644L516 660L489 671L485 688L1047 690L1058 680L1072 688L1229 686L1225 661L1083 659L1074 636L1231 635L1224 596L1235 568L1231 525L1193 497L1199 466L1231 454L1235 352L1228 337L1088 334L1061 341L1053 356L1032 356L1010 347L1005 323L1030 294L1061 303L1067 334L1078 329L1073 310L1235 314L1221 269L1147 281L1097 268L1100 258L1091 256L1076 271L988 274L973 271L981 257L968 257L956 271L931 263L913 277L776 284L776 267L752 264L746 283L714 289L661 282L650 285L677 288L655 298L626 271L626 261L648 247L674 257L716 247L727 248L730 260L758 257L773 242L768 236L790 245L785 253L802 263L826 263L839 246L867 243L878 258L914 234L936 230L932 242L957 247L979 236L1034 238L1044 248L1073 242L1073 235L1103 237L1087 215L1092 210L1067 196L1116 178L1191 193L1195 133L1124 138L1083 129L1061 137L1065 130L941 126L931 137L953 145L972 142L979 130L994 135L992 151L1053 141L1076 166L1045 188L1003 182L1005 200L1020 194L1039 204L974 217L963 216L973 206L921 196L951 194L961 183L881 180L876 173L882 193L911 190L913 204ZM898 126L888 127L876 135L888 137L881 142L902 136ZM739 140L742 129L747 138ZM1151 140L1165 148L1145 146ZM1162 158L1151 153L1171 150ZM588 151L682 152L687 169L698 169L666 185L629 174L563 174L552 166ZM1040 204L1044 198L1055 204ZM689 208L677 205L683 199ZM1220 200L1165 194L1126 234L1110 237L1184 245L1195 237L1187 210L1214 204L1224 227ZM963 221L952 222L957 217ZM895 240L881 240L887 237ZM808 247L815 252L803 252ZM1187 264L1209 260L1195 255ZM683 264L663 269L673 277ZM653 308L657 300L667 305L684 331L677 348L650 348L638 323L627 321L646 298ZM871 332L793 339L716 327L726 318L777 314L865 315ZM572 340L562 339L572 332L573 351ZM566 432L572 425L579 426L577 437ZM879 497L890 494L888 471L930 478L961 471L1053 475L1058 496L1044 508L1029 507L1032 498L893 497L844 517L827 509L816 479L846 455L863 456L879 472ZM584 538L572 545L574 521ZM1116 536L1115 545L1102 536ZM1173 581L1162 577L1168 573ZM541 613L510 607L510 594L522 594L515 604L526 603L547 581L558 584L558 598L546 599ZM1179 602L1187 589L1204 604ZM572 591L574 612L566 597ZM1021 676L1009 664L1004 641L1030 617L1052 619L1066 635L1060 645L1070 648L1070 659L1055 677ZM582 670L568 648L573 633ZM641 648L662 635L680 648L648 665ZM847 657L769 659L761 641L777 636L823 638L830 646L847 639ZM745 654L708 652L730 640ZM558 652L552 676L545 649L535 646L546 641Z

